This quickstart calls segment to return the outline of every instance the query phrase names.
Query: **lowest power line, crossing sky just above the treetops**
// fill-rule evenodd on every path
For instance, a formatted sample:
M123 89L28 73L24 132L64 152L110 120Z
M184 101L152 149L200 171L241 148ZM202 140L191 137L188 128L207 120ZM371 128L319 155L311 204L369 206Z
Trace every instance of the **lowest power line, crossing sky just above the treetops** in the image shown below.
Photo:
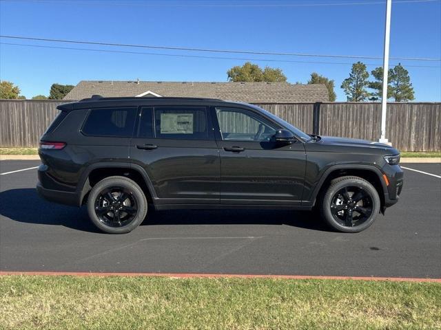
M57 47L57 46L46 46L46 45L30 45L24 43L2 43L0 45L14 45L14 46L25 46L25 47L41 47L41 48L52 48L57 50L80 50L87 52L105 52L105 53L116 53L116 54L139 54L139 55L153 55L153 56L172 56L172 57L183 57L183 58L208 58L208 59L220 59L220 60L240 60L240 61L261 61L261 62L278 62L278 63L311 63L311 64L336 64L336 65L352 65L353 63L342 63L342 62L323 62L323 61L290 61L290 60L274 60L270 58L238 58L238 57L220 57L220 56L198 56L198 55L185 55L185 54L164 54L164 53L147 53L147 52L127 52L119 50L96 50L92 48L76 48L76 47ZM380 63L367 63L367 66L381 66ZM441 68L441 66L435 65L406 65L406 67L428 67L428 68Z

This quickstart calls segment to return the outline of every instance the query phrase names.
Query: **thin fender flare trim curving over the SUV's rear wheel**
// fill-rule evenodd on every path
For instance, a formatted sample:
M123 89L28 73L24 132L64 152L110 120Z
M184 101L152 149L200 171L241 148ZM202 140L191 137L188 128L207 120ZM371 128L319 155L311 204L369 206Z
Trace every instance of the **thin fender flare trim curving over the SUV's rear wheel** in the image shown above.
M81 173L79 184L76 188L76 195L78 196L78 206L81 206L85 195L92 189L92 186L90 186L90 182L89 182L89 175L92 172L92 170L96 170L98 168L121 168L121 167L136 170L136 172L138 172L141 175L141 177L143 177L145 185L147 186L150 196L152 197L152 201L153 203L155 203L156 199L158 199L156 195L156 191L154 190L152 180L147 175L147 172L142 166L130 162L97 162L94 164L90 164L87 168L85 168L85 170L83 170L83 173Z

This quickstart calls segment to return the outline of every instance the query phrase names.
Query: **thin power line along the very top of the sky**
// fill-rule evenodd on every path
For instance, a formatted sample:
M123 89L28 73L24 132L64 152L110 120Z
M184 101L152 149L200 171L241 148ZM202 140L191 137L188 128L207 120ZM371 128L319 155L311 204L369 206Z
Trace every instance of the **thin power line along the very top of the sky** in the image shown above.
M395 3L427 3L440 0L396 0ZM321 7L321 6L342 6L342 5L384 5L384 1L363 1L363 2L340 2L340 3L141 3L138 1L70 1L70 0L0 0L0 2L21 2L21 3L63 3L76 5L136 5L147 7L199 7L199 8L289 8L289 7Z

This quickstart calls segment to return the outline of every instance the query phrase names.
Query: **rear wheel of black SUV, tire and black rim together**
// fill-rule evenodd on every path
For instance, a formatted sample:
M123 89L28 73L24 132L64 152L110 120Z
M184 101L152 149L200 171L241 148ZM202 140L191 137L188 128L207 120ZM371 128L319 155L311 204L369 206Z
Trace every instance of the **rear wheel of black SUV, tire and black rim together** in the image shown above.
M88 197L90 220L108 234L125 234L140 225L147 215L147 199L136 182L127 177L106 177Z

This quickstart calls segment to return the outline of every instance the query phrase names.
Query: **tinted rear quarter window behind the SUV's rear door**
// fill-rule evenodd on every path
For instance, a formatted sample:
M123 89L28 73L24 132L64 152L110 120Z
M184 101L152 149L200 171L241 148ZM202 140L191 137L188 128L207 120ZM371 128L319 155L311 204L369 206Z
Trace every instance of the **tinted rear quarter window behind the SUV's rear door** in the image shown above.
M132 137L137 108L92 109L81 132L93 136Z

